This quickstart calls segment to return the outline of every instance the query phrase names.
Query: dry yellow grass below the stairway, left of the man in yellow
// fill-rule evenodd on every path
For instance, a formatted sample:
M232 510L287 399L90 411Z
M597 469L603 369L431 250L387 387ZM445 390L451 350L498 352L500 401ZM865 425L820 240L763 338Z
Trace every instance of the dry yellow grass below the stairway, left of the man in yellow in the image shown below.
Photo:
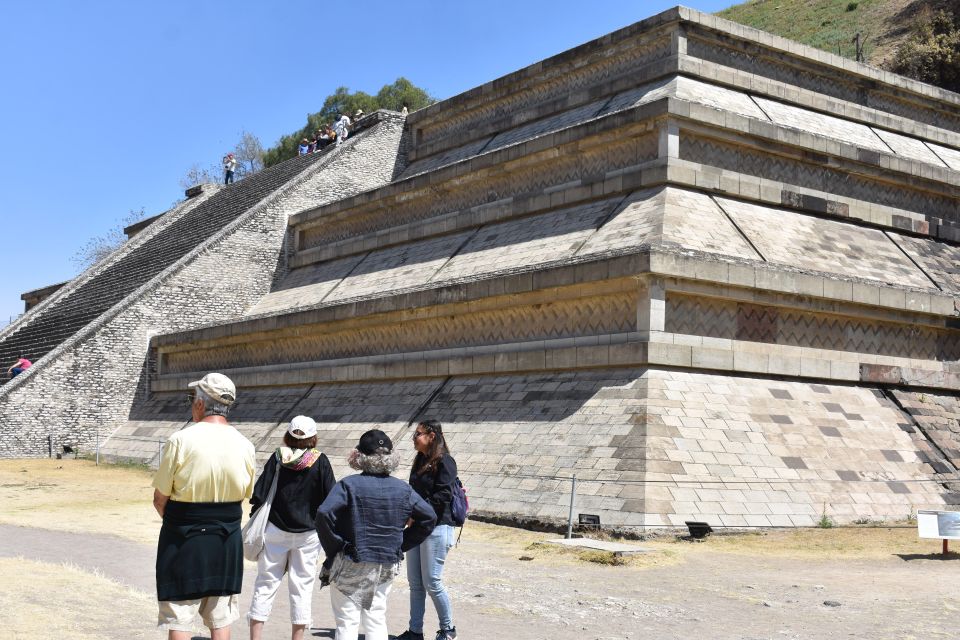
M0 460L0 522L154 543L152 474L90 460Z

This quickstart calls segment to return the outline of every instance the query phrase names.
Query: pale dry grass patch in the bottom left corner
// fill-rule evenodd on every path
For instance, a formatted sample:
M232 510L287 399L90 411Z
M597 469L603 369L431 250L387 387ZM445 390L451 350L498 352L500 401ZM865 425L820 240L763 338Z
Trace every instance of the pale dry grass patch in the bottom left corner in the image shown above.
M69 564L0 558L0 603L6 638L165 637L151 595Z

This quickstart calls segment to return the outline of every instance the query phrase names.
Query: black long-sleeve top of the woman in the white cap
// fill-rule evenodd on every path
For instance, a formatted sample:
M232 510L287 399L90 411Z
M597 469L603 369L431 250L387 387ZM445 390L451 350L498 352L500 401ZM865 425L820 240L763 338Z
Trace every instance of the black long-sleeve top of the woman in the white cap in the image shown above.
M253 488L253 497L250 498L251 515L256 513L267 499L273 476L278 470L280 477L277 480L277 495L270 507L268 521L278 529L291 533L312 531L317 509L337 483L330 461L321 453L320 458L310 468L294 471L280 465L276 455L270 456Z

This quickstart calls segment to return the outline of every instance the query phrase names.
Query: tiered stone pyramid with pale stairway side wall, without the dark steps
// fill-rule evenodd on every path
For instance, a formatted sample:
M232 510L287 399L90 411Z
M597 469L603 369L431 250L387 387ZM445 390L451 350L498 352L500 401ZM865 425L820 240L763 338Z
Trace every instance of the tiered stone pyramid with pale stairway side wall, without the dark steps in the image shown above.
M0 389L7 451L44 453L39 418L154 460L218 370L262 456L298 413L340 473L440 420L500 518L564 519L574 474L625 528L960 503L960 96L679 7L380 117L341 153L366 188L304 169L181 297L133 294L137 332L106 311Z

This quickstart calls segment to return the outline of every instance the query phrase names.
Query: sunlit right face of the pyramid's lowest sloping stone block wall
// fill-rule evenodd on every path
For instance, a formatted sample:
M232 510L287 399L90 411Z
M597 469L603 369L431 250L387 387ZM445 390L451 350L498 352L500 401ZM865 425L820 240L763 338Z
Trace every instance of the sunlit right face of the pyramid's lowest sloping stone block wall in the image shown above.
M813 526L956 502L878 389L651 371L648 525Z

